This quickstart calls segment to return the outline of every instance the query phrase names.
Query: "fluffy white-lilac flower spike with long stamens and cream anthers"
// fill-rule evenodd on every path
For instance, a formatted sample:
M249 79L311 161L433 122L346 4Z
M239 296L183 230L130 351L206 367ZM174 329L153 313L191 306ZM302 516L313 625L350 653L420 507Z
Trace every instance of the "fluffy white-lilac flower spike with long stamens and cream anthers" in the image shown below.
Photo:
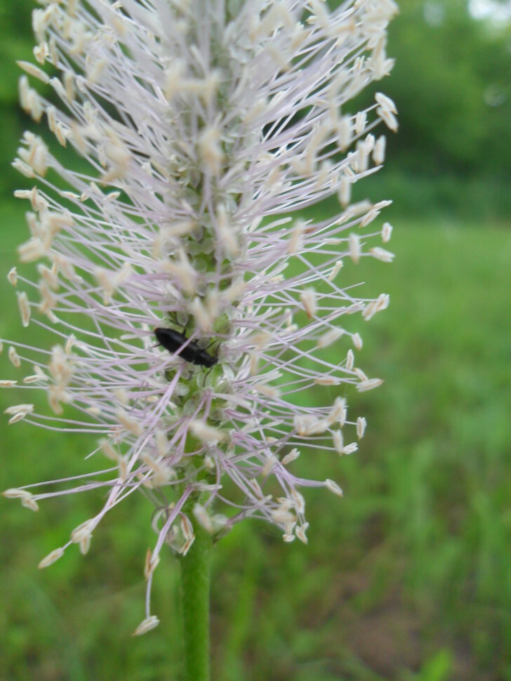
M12 270L9 280L23 325L51 329L55 343L8 341L8 356L16 377L26 373L17 388L46 390L53 416L26 400L8 414L98 435L93 454L105 467L77 490L103 488L107 500L41 565L70 543L86 553L105 513L138 489L158 509L149 585L164 541L179 553L192 546L193 520L218 533L258 517L285 541L306 541L298 488L342 492L297 477L291 462L303 447L349 454L357 445L344 445L340 428L361 437L365 420L348 420L340 397L304 408L297 396L326 385L328 400L332 386L343 394L380 383L355 366L350 342L359 350L361 336L343 324L369 319L388 296L357 297L340 270L348 256L392 260L372 245L392 227L370 227L388 201L350 205L350 194L383 162L385 138L371 131L380 119L397 127L394 103L378 93L369 109L347 112L390 72L385 31L396 6L42 4L33 21L41 67L20 66L61 105L27 76L21 103L36 121L46 115L69 164L25 133L14 165L29 180L16 196L29 201L30 236L19 253L39 261L40 279ZM340 201L332 216L289 216L331 196ZM171 329L164 347L156 327ZM323 352L333 343L338 364ZM69 492L59 482L6 496L36 510ZM147 610L136 633L156 623Z

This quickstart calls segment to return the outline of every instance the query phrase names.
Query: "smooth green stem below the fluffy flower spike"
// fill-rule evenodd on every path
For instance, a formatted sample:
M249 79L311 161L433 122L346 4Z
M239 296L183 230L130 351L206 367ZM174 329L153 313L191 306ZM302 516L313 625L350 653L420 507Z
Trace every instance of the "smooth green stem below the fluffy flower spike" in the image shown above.
M186 681L209 681L211 535L194 522L195 541L180 558Z

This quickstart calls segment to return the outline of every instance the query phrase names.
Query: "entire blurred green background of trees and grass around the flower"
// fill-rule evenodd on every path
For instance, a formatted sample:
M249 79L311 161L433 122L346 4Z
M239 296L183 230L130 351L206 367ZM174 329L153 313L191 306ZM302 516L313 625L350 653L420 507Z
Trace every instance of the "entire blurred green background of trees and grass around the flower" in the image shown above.
M400 7L388 49L397 65L377 88L397 103L399 134L385 169L357 185L361 196L394 199L385 219L397 258L343 270L347 282L390 293L390 309L361 329L360 364L385 384L350 396L369 422L357 454L297 462L345 490L342 500L307 492L307 546L245 522L215 550L215 681L511 680L511 9L495 0ZM12 192L29 185L9 164L22 131L36 127L18 109L14 65L32 52L31 8L0 3L7 338L22 333L5 275L27 234ZM36 327L23 333L34 338ZM0 366L10 378L5 354ZM1 410L13 399L0 392ZM79 436L6 421L1 489L72 475L69 459L89 451ZM48 501L38 514L0 503L1 681L180 679L170 555L154 579L161 626L129 637L154 541L142 496L107 517L86 557L69 550L45 571L37 562L101 498Z

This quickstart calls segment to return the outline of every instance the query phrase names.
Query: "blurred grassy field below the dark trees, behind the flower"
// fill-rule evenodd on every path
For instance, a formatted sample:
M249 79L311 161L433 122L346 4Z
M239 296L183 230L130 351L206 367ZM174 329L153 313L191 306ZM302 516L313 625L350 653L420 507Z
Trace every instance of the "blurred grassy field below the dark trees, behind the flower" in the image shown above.
M25 227L19 213L0 219L5 282ZM303 475L337 480L345 498L306 494L307 546L246 522L216 548L215 681L511 680L511 232L395 226L393 265L345 273L391 296L361 329L360 366L385 378L350 396L367 435L354 456L300 459ZM19 337L2 282L0 336ZM0 365L11 377L5 353ZM0 392L2 410L12 399ZM88 451L5 417L0 428L2 489L72 475L69 459ZM154 582L161 626L129 637L153 541L145 499L107 518L88 556L71 550L36 570L100 502L72 496L33 514L1 501L2 681L179 680L170 555Z

